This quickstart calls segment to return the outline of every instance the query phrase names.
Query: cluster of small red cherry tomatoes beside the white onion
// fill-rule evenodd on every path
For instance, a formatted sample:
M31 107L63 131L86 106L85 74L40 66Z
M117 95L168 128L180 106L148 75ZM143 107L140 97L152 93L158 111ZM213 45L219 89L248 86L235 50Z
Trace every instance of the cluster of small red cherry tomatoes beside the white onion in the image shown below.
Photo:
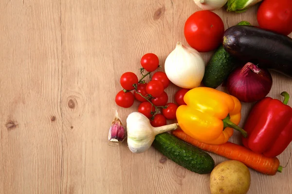
M123 90L118 92L115 102L120 107L129 108L136 99L141 102L138 112L149 118L153 127L164 126L166 119L176 119L176 110L178 105L185 104L183 96L188 89L180 89L175 94L175 101L178 105L168 102L168 95L164 89L168 87L170 81L166 74L157 71L151 77L151 72L159 67L157 55L147 53L141 58L140 63L143 67L140 69L142 78L138 80L136 74L132 72L124 73L120 78ZM145 70L147 73L144 73ZM148 83L144 80L146 76L150 76Z

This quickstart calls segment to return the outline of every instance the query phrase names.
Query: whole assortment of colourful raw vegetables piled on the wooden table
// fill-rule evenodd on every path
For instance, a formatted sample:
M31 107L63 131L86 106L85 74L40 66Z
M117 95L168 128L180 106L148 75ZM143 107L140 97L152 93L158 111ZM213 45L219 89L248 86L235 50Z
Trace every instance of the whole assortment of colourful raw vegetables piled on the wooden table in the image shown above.
M270 70L292 78L292 39L287 36L292 3L261 1L194 0L202 10L186 18L182 29L189 46L177 42L164 62L165 73L156 71L159 56L146 53L140 59L140 80L133 72L121 75L116 104L129 108L135 99L140 104L128 115L127 128L116 112L108 140L120 144L127 138L133 153L153 145L192 172L211 173L211 194L246 194L248 167L270 176L282 172L276 156L292 142L292 108L287 92L281 93L283 102L267 96L273 87ZM257 3L260 27L241 21L224 31L222 19L210 11L223 7L240 13ZM214 53L205 65L200 52L209 51ZM174 96L164 91L171 82L179 87ZM221 84L226 93L216 89ZM243 129L238 126L241 102L255 102ZM234 129L243 146L228 142ZM215 167L204 151L230 161Z

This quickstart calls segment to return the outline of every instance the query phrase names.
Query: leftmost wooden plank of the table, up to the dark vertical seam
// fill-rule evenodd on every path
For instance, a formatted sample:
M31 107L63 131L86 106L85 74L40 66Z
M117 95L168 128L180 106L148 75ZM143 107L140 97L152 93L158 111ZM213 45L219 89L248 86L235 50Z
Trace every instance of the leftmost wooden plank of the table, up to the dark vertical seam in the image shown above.
M0 192L60 190L59 2L0 2Z

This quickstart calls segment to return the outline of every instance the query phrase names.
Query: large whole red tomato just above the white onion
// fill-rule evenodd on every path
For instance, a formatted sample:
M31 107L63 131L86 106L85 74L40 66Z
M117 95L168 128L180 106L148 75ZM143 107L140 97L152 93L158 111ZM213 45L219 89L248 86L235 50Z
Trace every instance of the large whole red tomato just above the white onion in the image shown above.
M224 23L214 12L195 12L186 20L184 37L187 43L199 52L208 52L219 47L224 33Z

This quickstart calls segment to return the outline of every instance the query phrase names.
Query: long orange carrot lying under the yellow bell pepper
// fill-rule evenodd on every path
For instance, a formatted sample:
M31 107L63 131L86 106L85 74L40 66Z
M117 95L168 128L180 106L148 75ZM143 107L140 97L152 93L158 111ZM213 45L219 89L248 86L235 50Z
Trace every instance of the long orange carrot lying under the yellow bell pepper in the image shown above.
M268 158L262 154L257 154L244 146L239 146L231 142L226 142L225 144L221 145L207 145L193 139L180 129L172 131L172 134L204 151L212 152L230 160L237 160L256 170L257 172L266 175L275 175L276 172L282 172L283 169L283 167L279 165L280 162L276 157Z

